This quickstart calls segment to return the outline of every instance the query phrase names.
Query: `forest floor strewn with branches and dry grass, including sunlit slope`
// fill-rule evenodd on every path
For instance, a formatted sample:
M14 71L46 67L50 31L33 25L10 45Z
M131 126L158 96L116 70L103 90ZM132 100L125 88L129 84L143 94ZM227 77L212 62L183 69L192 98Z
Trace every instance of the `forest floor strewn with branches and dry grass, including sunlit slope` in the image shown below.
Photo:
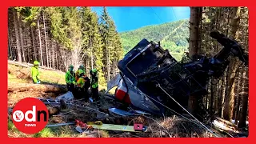
M22 98L56 98L66 93L65 73L52 70L40 70L40 78L44 84L34 85L30 80L30 68L23 66L8 65L8 136L10 138L49 138L49 137L90 137L90 138L164 138L164 137L187 137L187 138L210 138L214 137L206 130L202 129L193 122L187 121L178 116L158 118L154 116L130 116L123 117L117 114L109 113L109 108L122 109L122 103L107 97L104 91L106 86L99 86L99 103L90 102L88 106L95 110L106 112L107 117L99 117L97 113L91 110L82 110L75 107L68 107L58 111L58 114L50 116L48 124L58 124L63 122L74 122L78 119L82 122L102 121L107 124L133 126L134 123L143 124L148 127L146 132L123 132L110 130L94 130L90 134L79 134L74 125L46 127L37 134L24 134L16 129L11 122L10 114L13 106ZM110 91L114 94L114 90ZM82 101L81 101L82 102ZM85 102L84 102L85 103ZM49 106L48 106L49 108ZM230 137L230 134L220 133L214 130L221 137Z

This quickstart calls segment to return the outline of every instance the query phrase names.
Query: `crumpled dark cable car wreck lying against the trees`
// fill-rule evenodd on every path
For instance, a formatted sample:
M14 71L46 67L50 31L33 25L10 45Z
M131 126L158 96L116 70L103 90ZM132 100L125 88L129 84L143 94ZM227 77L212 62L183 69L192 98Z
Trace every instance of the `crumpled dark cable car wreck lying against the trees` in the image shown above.
M178 105L187 108L190 95L207 94L207 82L222 76L230 56L248 66L248 54L238 42L218 31L211 32L210 37L223 46L222 50L210 58L196 55L186 63L177 62L159 42L142 39L118 62L120 73L107 83L106 93L118 86L114 98L135 109L159 115L166 107L182 112Z

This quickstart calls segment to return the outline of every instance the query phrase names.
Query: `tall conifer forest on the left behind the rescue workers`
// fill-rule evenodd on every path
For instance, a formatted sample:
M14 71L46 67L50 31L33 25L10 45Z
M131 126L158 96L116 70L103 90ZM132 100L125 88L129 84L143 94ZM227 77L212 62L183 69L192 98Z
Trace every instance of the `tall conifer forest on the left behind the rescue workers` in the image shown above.
M117 73L123 50L106 8L98 16L90 7L12 7L8 18L8 59L62 71L84 63L101 84Z

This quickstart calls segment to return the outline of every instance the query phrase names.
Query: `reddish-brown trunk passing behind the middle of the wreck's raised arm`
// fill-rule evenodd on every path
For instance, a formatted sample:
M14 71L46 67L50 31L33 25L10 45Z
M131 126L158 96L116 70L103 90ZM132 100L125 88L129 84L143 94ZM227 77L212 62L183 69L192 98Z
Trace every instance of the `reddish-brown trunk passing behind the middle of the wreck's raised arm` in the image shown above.
M230 38L237 39L238 38L238 26L240 22L240 7L232 7L232 22L231 22L231 33ZM236 74L236 70L238 68L238 62L236 60L232 60L230 62L230 69L227 79L227 87L226 87L226 100L223 111L223 118L226 120L230 120L232 118L233 109L234 109L234 77Z

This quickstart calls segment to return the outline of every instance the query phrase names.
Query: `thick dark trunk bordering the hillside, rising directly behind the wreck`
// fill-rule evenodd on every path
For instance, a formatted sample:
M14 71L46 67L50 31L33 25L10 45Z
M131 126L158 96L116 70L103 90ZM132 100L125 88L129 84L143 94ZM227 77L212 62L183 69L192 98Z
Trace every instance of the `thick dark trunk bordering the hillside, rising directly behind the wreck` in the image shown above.
M190 58L194 57L194 54L198 54L198 38L199 38L199 18L202 13L200 10L202 7L190 7L190 48L189 48L189 56ZM188 102L188 110L191 114L196 114L198 110L198 96L190 95Z

